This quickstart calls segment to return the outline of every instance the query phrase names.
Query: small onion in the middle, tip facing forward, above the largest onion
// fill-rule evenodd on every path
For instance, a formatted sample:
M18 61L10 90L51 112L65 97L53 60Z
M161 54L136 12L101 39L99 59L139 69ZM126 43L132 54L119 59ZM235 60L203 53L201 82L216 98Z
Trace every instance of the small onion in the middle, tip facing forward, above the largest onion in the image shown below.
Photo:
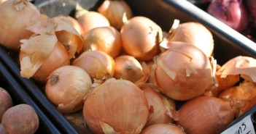
M135 83L143 77L142 67L134 56L121 55L115 58L114 78Z

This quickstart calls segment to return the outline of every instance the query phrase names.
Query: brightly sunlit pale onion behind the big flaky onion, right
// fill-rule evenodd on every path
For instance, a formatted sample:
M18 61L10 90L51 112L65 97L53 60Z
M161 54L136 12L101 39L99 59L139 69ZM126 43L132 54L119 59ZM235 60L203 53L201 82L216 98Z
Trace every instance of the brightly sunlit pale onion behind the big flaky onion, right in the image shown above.
M214 39L210 30L198 22L184 22L179 24L171 35L169 42L181 41L201 49L206 56L212 56Z

